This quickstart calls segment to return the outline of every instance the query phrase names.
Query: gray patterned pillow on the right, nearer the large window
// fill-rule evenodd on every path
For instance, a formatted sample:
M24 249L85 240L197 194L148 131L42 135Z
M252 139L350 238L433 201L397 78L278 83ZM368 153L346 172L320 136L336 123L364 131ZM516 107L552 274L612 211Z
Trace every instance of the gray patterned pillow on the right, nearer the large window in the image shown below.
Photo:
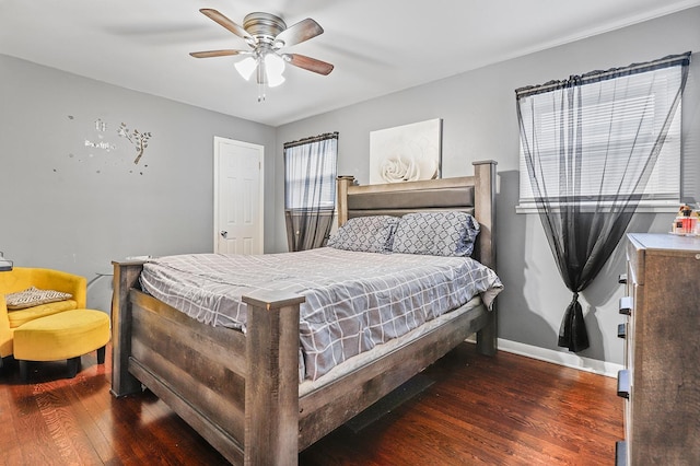
M479 223L465 212L407 213L394 235L394 252L430 256L470 256Z

